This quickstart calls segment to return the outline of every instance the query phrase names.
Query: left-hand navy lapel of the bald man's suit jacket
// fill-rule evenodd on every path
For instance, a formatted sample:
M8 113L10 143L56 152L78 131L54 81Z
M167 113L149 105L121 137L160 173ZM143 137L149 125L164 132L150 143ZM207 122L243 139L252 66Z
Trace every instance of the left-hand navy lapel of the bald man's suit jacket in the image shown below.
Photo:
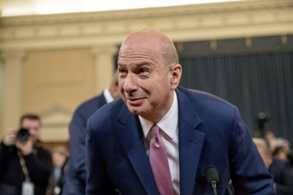
M117 134L141 183L148 194L159 194L143 141L139 119L123 105L118 116L122 128Z

